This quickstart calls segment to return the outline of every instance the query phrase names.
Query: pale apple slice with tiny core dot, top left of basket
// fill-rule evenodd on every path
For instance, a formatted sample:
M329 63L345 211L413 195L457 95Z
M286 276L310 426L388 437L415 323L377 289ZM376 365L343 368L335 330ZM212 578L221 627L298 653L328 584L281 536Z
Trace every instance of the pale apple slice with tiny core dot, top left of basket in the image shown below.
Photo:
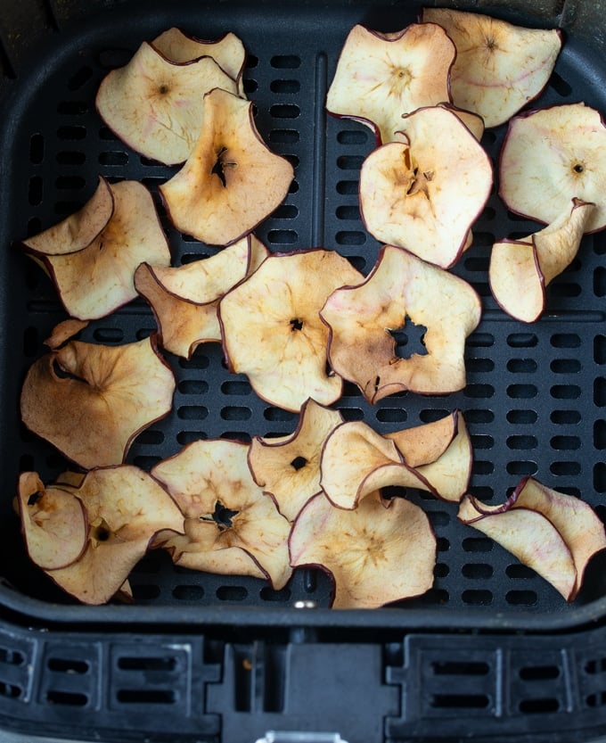
M104 123L135 152L176 165L198 140L204 95L218 87L230 94L238 90L212 57L172 62L143 42L127 65L102 79L95 104Z

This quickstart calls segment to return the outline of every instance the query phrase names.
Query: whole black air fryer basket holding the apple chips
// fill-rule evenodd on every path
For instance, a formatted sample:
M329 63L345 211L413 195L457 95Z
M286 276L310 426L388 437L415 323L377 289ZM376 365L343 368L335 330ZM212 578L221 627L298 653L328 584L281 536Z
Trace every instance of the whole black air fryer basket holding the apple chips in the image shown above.
M606 111L602 3L451 5L560 27L563 50L535 105L582 100ZM275 591L257 579L176 568L158 551L131 576L133 605L83 607L30 564L12 511L19 471L35 469L48 481L65 466L53 447L20 425L23 376L65 314L50 281L14 241L75 211L102 175L150 187L176 264L215 252L178 233L162 211L157 186L175 169L136 155L102 125L94 110L102 77L170 26L204 38L234 31L249 53L245 91L255 102L258 129L295 167L290 193L258 236L272 251L336 249L367 273L377 243L361 224L357 180L373 136L361 124L328 116L324 98L348 29L356 22L401 29L420 7L404 0L20 0L0 8L0 714L7 728L29 730L29 722L39 721L57 735L92 737L96 725L107 739L154 739L154 733L162 739L163 731L181 730L184 740L239 740L242 725L249 725L253 732L242 740L307 730L339 731L353 743L463 736L470 728L455 722L462 708L478 739L541 731L555 740L566 725L579 731L606 725L601 555L569 606L504 549L459 524L455 508L411 493L438 535L434 588L420 599L373 612L334 612L321 572L298 570ZM482 140L494 162L504 130L489 130ZM472 249L454 269L483 304L467 343L463 392L407 393L370 406L347 384L338 407L346 419L364 419L381 432L461 409L474 447L471 491L480 499L499 502L522 476L535 475L585 499L603 518L606 237L584 238L577 259L549 286L545 316L523 325L497 308L487 285L488 257L496 238L534 229L536 223L504 208L495 189L474 227ZM154 329L141 300L92 323L81 337L118 344ZM399 334L403 353L418 347L418 336L414 329ZM196 438L247 440L294 430L297 416L262 402L246 377L230 374L218 344L201 346L191 361L168 361L177 377L174 408L137 438L128 461L149 469ZM455 629L456 640L449 634ZM297 673L299 681L309 673L330 684L347 678L343 708L346 701L360 704L357 695L364 699L373 718L367 729L349 730L352 721L319 692L322 719L310 722L313 701L299 698ZM122 737L112 738L119 730Z

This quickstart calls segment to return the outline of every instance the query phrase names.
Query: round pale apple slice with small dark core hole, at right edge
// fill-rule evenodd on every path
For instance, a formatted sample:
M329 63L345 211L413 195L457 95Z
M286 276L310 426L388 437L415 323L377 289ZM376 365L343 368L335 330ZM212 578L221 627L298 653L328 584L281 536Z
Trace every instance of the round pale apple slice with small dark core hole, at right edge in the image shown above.
M520 113L507 129L499 161L507 208L546 225L570 202L594 203L585 231L606 227L606 126L585 103Z

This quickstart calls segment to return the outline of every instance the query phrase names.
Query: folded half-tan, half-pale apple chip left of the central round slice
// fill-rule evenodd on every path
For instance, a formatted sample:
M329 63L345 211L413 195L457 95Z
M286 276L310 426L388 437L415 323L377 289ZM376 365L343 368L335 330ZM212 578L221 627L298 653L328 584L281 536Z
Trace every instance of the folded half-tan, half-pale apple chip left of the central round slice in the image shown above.
M219 300L257 270L268 254L250 234L207 259L178 268L142 263L135 271L135 288L151 304L160 345L190 359L200 343L220 343Z

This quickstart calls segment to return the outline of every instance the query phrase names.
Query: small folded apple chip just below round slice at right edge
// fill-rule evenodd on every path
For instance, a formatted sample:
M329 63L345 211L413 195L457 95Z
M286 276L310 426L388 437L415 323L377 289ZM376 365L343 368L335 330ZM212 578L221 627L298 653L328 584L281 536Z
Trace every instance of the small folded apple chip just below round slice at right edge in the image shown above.
M545 310L545 289L577 255L595 204L573 199L551 225L521 240L502 240L490 253L490 289L512 318L534 322Z

